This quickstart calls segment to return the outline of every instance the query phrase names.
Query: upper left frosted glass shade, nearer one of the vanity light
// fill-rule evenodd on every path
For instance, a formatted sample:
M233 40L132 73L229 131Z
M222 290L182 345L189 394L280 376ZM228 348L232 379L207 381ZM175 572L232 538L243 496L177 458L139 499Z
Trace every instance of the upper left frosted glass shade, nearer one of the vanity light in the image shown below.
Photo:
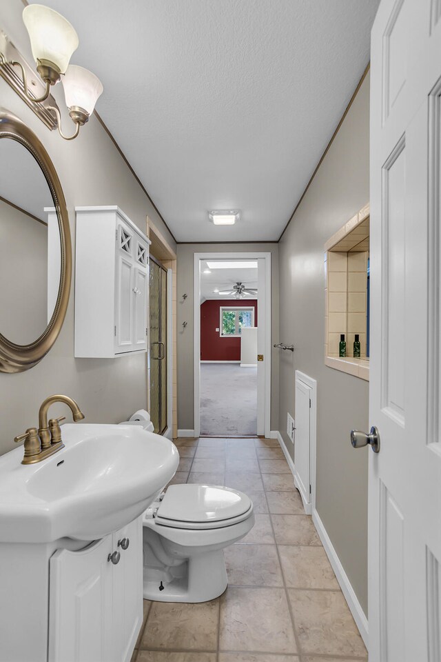
M34 60L48 60L63 74L79 44L78 34L69 21L44 5L28 5L23 10L23 22Z

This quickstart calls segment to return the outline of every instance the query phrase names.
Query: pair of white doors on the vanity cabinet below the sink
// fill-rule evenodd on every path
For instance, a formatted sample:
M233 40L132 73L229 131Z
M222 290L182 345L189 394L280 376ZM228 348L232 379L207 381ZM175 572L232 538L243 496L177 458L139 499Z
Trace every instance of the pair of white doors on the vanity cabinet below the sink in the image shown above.
M79 552L55 552L49 572L48 661L130 662L143 622L141 518Z

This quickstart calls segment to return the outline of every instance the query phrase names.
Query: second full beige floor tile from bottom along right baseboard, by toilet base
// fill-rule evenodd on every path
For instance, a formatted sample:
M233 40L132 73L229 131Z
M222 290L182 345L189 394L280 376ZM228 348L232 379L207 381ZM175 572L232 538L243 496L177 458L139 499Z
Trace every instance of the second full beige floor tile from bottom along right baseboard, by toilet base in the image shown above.
M340 589L334 570L322 547L279 545L278 553L287 586Z

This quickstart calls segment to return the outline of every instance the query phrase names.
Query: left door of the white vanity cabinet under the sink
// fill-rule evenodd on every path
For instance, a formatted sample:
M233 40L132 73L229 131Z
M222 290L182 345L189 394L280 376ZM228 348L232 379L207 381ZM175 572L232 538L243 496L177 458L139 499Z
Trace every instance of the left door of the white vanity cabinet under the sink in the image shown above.
M112 536L50 559L49 662L116 662ZM142 583L142 582L141 582Z

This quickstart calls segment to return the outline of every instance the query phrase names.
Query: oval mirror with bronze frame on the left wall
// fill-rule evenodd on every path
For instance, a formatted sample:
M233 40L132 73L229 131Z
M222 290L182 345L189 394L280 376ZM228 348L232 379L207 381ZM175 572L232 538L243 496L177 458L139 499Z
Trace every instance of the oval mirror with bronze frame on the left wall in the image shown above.
M37 136L0 110L0 370L36 365L57 339L72 269L68 213Z

